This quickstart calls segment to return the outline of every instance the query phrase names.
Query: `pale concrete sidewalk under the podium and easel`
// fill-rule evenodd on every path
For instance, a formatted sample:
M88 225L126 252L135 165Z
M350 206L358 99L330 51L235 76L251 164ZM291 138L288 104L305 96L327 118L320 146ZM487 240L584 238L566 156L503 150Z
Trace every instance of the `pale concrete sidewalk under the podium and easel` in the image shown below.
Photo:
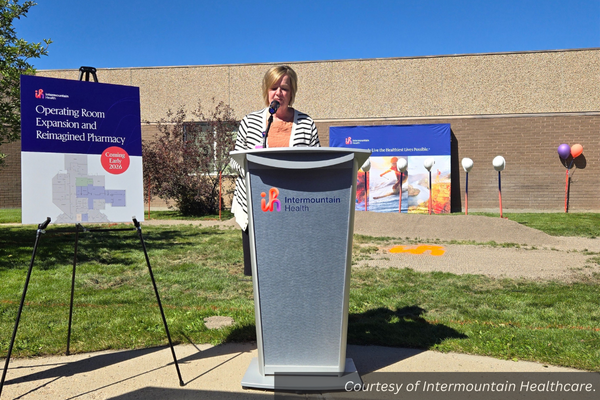
M12 360L2 399L262 399L241 380L256 345L175 347L185 386L179 386L168 347ZM575 372L568 368L490 357L380 346L348 346L361 375L381 372ZM327 397L326 394L323 396ZM321 398L321 395L307 397Z

